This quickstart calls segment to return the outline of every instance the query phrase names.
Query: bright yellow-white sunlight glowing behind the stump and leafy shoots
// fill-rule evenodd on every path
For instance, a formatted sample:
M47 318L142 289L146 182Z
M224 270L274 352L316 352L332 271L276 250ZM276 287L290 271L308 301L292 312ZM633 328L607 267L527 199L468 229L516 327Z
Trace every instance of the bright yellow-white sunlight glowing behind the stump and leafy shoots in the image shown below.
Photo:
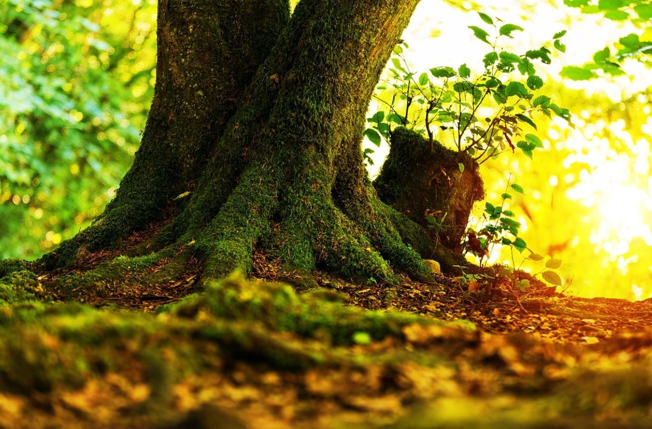
M460 33L459 22L473 24L477 18L470 4L466 8L468 12L439 2L419 5L404 33L404 40L410 46L405 55L413 70L421 72L443 65L458 67L462 63L473 70L482 69L479 59L488 47L473 37L471 31ZM524 20L528 13L525 10L529 13L536 10L537 20ZM652 285L647 282L649 270L645 271L638 263L646 258L632 254L649 252L652 246L652 177L648 177L652 119L647 117L652 108L644 91L652 81L652 70L636 61L627 61L623 64L626 72L623 76L563 80L563 87L559 87L562 83L557 75L565 65L590 61L593 53L609 40L627 34L631 24L602 20L597 14L579 14L550 3L495 2L486 5L482 12L525 28L518 38L507 40L512 46L503 46L513 52L546 42L552 31L568 28L569 13L573 21L572 30L564 40L567 52L556 53L544 74L547 74L546 85L551 87L550 94L571 108L574 128L559 118L553 118L547 125L543 125L547 119L535 119L541 121L544 153L535 156L535 164L524 156L512 156L483 166L486 201L499 200L505 188L505 171L511 171L514 180L528 191L522 198L511 201L511 209L520 214L524 207L529 207L527 216L518 217L529 248L542 254L547 249L552 252L549 257L565 259L566 282L574 277L571 291L584 296L610 294L629 299L652 296ZM600 31L596 32L598 25ZM589 33L591 37L587 38ZM436 55L424 55L424 52L436 52ZM627 107L631 106L627 103L632 98L640 108ZM576 100L593 102L581 101L574 107ZM379 108L379 104L372 103L371 114ZM374 177L389 147L383 142L381 147L372 149L374 165L369 170ZM479 223L481 205L484 203L474 212L471 228ZM586 259L591 254L595 257ZM511 264L512 255L496 248L488 262ZM609 282L608 273L623 276L622 285ZM627 286L628 283L637 284L636 289Z

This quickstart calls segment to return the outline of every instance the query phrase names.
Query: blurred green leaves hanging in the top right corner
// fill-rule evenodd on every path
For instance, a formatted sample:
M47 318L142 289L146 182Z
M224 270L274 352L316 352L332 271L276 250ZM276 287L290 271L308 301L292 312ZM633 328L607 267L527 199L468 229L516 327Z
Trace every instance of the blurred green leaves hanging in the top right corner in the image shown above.
M561 75L572 80L597 78L598 72L612 76L625 74L621 65L627 59L636 59L652 65L652 2L649 0L564 0L565 5L580 8L585 14L602 14L616 22L627 22L636 31L619 37L610 46L596 52L593 61L582 67L564 67Z

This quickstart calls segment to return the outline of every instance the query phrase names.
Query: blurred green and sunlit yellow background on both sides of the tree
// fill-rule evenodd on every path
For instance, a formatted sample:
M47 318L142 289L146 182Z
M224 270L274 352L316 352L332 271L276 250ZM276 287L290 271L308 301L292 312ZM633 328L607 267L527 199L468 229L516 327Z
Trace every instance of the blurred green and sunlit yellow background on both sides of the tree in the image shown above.
M566 52L551 48L552 64L539 67L545 81L539 93L569 108L574 128L559 118L535 118L545 150L533 160L509 153L483 164L487 200L499 200L509 177L523 186L509 208L531 250L563 259L559 289L646 299L652 297L652 67L645 55L633 54L621 55L621 72L611 74L563 67L583 67L605 46L627 53L623 38L632 33L637 46L652 42L647 9L621 0L565 3L422 0L404 34L404 55L419 74L462 63L481 72L490 48L467 28L484 25L479 10L523 27L501 42L515 53L568 31ZM649 1L638 3L652 16ZM155 0L0 0L0 258L34 259L52 250L112 198L153 96L155 27ZM376 110L372 103L370 112ZM389 149L385 141L365 147L374 150L373 176ZM473 222L484 204L477 206ZM496 248L491 260L511 263L511 256ZM531 261L523 267L543 268Z

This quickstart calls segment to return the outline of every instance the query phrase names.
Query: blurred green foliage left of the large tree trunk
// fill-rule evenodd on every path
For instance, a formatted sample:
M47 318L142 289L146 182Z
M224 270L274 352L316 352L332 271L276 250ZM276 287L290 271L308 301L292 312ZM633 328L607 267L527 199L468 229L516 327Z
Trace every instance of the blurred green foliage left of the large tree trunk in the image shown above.
M111 198L149 109L154 33L153 0L0 0L0 258L37 256Z

